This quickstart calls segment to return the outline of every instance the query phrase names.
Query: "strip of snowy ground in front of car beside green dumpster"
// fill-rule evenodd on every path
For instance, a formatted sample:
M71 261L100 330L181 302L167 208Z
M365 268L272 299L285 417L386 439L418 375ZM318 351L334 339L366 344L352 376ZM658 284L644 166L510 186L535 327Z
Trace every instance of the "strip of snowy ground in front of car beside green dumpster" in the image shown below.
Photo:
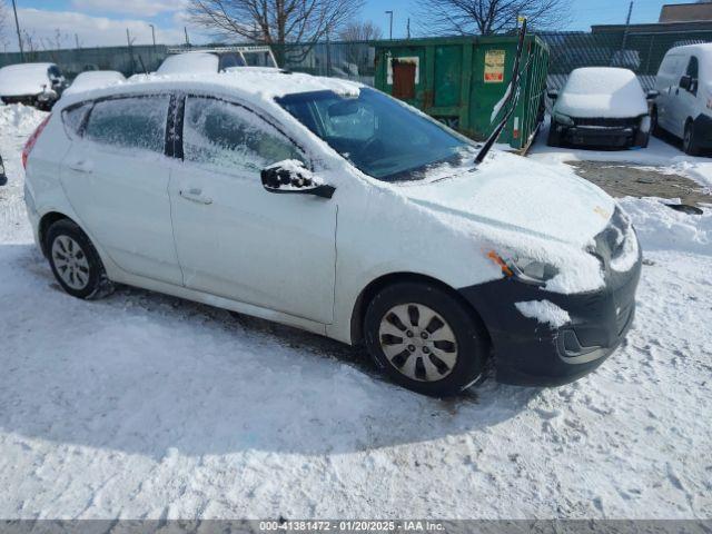
M611 161L656 167L659 171L682 175L712 189L712 158L693 158L678 147L651 136L649 148L632 150L586 150L547 147L548 125L544 125L530 150L530 157L542 164L565 161Z

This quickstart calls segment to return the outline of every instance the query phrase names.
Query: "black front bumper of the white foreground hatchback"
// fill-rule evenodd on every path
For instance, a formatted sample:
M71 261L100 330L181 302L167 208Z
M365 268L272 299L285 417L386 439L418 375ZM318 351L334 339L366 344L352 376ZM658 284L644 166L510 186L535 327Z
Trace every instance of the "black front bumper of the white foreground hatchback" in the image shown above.
M497 382L557 386L599 367L625 339L635 316L642 256L627 273L609 270L603 289L574 295L546 291L512 278L466 287L492 337ZM553 328L525 317L515 303L548 300L571 323Z

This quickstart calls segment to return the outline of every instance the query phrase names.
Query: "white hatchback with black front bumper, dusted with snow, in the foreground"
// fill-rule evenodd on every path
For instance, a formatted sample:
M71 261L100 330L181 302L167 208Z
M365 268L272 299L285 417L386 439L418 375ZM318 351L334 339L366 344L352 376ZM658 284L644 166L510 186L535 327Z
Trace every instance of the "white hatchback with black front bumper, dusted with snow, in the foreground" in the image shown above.
M69 96L23 154L38 245L79 298L128 284L364 342L429 395L556 385L631 326L641 250L573 174L490 154L357 83L142 77Z

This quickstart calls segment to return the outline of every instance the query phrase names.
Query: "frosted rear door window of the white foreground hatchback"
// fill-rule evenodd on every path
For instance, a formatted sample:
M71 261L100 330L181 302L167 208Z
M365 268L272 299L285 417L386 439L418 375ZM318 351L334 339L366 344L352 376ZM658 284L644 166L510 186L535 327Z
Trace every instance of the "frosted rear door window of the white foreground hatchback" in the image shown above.
M128 97L95 103L85 137L115 147L164 154L170 96Z

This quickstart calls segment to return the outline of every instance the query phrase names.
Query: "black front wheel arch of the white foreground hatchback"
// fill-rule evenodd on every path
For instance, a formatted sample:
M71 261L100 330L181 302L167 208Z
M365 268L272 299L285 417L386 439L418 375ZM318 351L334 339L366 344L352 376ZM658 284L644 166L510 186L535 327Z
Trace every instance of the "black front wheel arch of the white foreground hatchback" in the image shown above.
M368 308L368 304L374 299L376 295L385 287L390 286L393 284L398 284L402 281L416 281L422 284L429 284L436 286L444 291L448 293L453 298L459 301L471 314L474 320L481 323L484 328L484 332L487 333L487 344L492 347L492 337L490 335L490 330L487 329L487 325L482 319L482 315L475 309L475 307L465 299L455 288L448 286L442 280L434 278L432 276L422 275L417 273L389 273L387 275L379 276L375 280L372 280L358 295L356 301L354 303L354 309L352 310L352 322L350 322L350 336L352 344L357 345L364 339L364 319L366 316L366 309Z

